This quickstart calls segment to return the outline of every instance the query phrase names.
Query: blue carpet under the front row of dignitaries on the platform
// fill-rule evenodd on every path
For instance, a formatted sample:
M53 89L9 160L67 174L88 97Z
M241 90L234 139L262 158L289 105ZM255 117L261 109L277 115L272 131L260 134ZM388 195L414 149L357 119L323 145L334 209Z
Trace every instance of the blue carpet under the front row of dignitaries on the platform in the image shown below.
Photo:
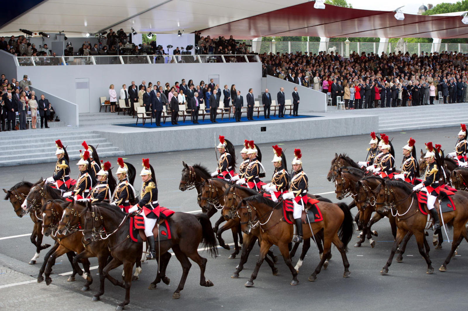
M242 122L243 123L248 123L248 122L265 121L265 120L266 121L298 120L298 119L310 119L310 118L318 118L318 117L320 117L320 116L318 116L318 115L302 115L302 116L299 116L299 117L290 117L289 115L287 115L287 116L285 116L285 118L279 119L278 116L274 117L273 115L271 115L270 119L265 119L263 117L263 114L261 114L260 117L257 119L256 115L254 114L254 120L247 120L247 117L241 117L241 122L237 122L237 123L242 124ZM224 117L224 120L222 120L222 121L221 121L221 116L218 115L218 118L216 120L218 121L217 124L236 123L236 121L234 120L232 115L231 115L231 120L228 120L227 115ZM215 124L215 123L211 123L209 115L205 116L205 121L202 120L202 117L199 117L198 118L199 124L192 124L192 122L190 121L190 116L185 119L185 123L183 123L183 118L179 117L179 121L178 121L179 125L172 125L170 117L166 119L165 124L163 124L162 121L163 120L161 118L161 127L186 127L186 126L197 126L197 125L202 125L202 124L205 124L205 125ZM134 122L136 122L136 119L135 119ZM151 125L151 122L149 120L146 120L145 126L143 126L142 124L143 124L143 121L139 120L138 125L135 125L135 123L114 124L114 125L118 125L118 126L121 126L121 127L144 127L144 128L156 127L156 123L154 123L154 119L153 119L153 125Z

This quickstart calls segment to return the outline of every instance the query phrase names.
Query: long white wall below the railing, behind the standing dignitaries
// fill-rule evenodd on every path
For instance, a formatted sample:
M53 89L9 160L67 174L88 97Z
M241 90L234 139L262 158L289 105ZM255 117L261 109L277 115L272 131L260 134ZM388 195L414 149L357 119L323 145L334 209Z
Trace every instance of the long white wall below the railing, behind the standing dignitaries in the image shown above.
M248 74L246 74L248 73ZM76 101L75 78L89 78L89 112L99 112L100 96L109 99L109 85L115 85L117 97L123 84L141 84L142 80L156 84L161 81L172 86L182 78L188 82L193 79L195 85L200 80L209 82L209 75L219 75L221 90L227 84L245 95L249 88L254 89L254 96L261 95L261 63L208 63L208 64L114 64L114 65L69 65L69 66L28 66L17 67L17 77L28 75L32 85L72 103ZM14 77L8 77L9 79ZM279 80L279 79L278 79ZM118 98L117 98L118 99ZM79 105L80 106L80 105ZM81 112L81 111L80 111Z

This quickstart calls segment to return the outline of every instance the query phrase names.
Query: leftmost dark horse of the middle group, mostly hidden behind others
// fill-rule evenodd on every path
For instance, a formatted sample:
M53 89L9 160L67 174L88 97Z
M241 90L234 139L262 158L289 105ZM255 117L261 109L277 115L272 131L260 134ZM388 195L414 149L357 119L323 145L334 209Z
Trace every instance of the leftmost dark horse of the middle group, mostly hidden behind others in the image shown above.
M186 191L190 189L197 189L197 202L198 205L201 207L202 212L206 213L209 218L211 218L217 211L217 208L214 208L214 205L210 203L201 204L200 197L201 197L201 189L202 184L207 179L211 179L211 174L208 172L205 166L201 164L194 164L193 166L188 166L185 162L182 161L183 170L182 170L182 177L179 184L180 191ZM214 225L214 232L218 232L219 225L224 222L226 219L223 215L219 217ZM242 244L242 234L240 227L237 228L237 233L239 235L239 241ZM234 235L233 231L233 239L237 243L237 236Z

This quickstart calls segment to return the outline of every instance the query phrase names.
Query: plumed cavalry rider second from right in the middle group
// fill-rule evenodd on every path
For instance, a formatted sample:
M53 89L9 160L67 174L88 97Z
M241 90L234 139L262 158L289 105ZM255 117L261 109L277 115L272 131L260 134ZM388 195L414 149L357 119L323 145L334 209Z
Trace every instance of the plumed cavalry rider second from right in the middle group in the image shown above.
M289 190L289 174L286 168L286 158L283 149L278 147L278 145L273 146L273 161L271 162L273 162L275 172L273 173L273 177L271 177L271 183L264 184L262 188L270 192L271 199L276 202L283 193Z

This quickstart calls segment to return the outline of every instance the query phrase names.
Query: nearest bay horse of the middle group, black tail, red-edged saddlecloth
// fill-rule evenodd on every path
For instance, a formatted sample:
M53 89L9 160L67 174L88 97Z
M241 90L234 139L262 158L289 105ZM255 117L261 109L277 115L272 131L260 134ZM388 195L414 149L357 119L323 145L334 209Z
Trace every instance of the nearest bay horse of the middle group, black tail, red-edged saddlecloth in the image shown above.
M236 188L240 187L237 185L233 186ZM244 191L250 192L251 196L242 199L241 203L237 206L237 212L241 218L242 230L244 233L247 233L249 232L249 227L259 226L260 236L262 237L260 257L257 260L252 276L247 283L245 283L245 286L251 287L254 285L253 281L256 279L265 255L272 245L278 246L286 265L291 270L292 281L290 284L297 285L299 283L297 279L298 273L292 266L288 252L288 243L292 240L293 226L284 221L282 202L273 202L271 199L265 198L256 193L256 191L247 188L244 189ZM333 204L319 202L317 205L322 212L323 220L310 225L302 225L305 239L311 238L314 234L323 230L323 256L308 280L313 282L317 279L317 274L320 273L323 263L330 254L331 243L333 243L341 253L344 265L343 277L348 277L351 272L349 271L350 264L346 257L346 252L347 245L351 240L354 230L351 212L344 203Z

